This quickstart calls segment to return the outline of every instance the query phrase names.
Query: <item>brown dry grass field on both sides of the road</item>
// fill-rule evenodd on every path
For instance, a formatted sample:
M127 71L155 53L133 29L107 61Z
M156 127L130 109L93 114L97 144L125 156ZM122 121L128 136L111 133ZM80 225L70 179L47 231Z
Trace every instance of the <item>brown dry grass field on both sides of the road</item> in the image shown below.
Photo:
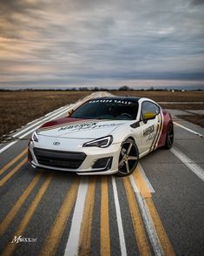
M75 103L90 93L91 91L1 91L0 136L63 105ZM157 102L192 102L192 104L161 104L165 108L204 109L203 104L194 104L204 101L203 91L112 91L112 93L118 96L147 97ZM204 120L203 116L200 120ZM191 121L194 122L193 118Z

